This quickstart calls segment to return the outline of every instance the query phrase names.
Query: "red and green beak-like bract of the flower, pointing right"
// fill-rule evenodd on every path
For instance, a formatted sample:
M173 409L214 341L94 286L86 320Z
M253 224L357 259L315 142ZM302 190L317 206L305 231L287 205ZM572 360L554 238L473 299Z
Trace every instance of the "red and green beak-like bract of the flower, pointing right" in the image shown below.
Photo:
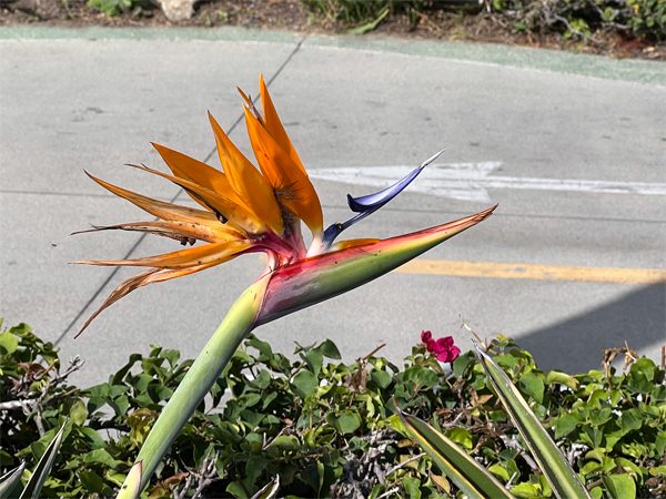
M496 207L497 205L436 227L339 252L324 253L280 267L271 276L258 325L270 323L374 281L450 237L483 222Z

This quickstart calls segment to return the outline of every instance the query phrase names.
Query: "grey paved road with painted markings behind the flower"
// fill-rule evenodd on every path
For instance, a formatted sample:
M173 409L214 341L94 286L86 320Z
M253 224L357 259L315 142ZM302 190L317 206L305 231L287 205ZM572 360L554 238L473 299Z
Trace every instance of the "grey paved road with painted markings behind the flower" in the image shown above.
M658 359L666 324L658 282L666 268L666 65L235 29L0 28L4 325L26 322L57 342L63 358L81 355L85 383L105 380L149 344L195 356L262 264L245 256L142 288L74 340L135 271L68 262L176 249L130 233L70 236L89 224L148 220L83 169L189 203L169 182L123 164L162 167L151 141L210 157L208 110L250 154L235 86L256 94L260 73L313 172L326 223L349 217L347 192L372 192L395 166L448 147L421 190L418 179L349 237L398 235L500 203L488 221L424 255L430 266L262 326L256 334L274 349L331 338L351 361L386 343L383 354L400 361L422 329L470 347L464 317L480 336L516 338L544 369L598 368L602 350L625 340ZM466 271L446 275L454 267Z

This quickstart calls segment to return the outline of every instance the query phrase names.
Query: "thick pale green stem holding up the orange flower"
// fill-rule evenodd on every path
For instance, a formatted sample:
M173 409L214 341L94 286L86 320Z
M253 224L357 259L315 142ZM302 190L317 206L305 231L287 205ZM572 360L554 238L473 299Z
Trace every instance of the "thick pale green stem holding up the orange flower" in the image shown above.
M150 481L175 437L218 380L241 342L254 328L256 313L269 282L266 277L250 286L232 305L162 410L137 457L137 461L143 461L139 490L143 490Z

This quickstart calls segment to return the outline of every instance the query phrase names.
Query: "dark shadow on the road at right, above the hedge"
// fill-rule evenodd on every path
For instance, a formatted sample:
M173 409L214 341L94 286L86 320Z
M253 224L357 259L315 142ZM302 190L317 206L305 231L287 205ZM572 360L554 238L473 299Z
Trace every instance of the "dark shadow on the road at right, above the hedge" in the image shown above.
M539 369L566 373L601 369L602 352L622 347L639 354L665 342L666 286L655 284L545 329L528 333L517 343L531 352ZM655 348L655 352L657 348ZM660 355L659 355L660 356ZM659 363L659 356L653 356Z

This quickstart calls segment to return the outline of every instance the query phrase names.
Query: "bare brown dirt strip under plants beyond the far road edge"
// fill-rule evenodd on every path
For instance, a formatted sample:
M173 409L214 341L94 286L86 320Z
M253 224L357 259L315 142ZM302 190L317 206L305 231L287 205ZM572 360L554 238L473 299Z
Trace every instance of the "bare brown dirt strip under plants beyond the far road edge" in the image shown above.
M595 34L601 43L588 44L564 39L558 33L517 32L485 12L462 16L434 11L415 13L413 19L396 16L385 19L364 37L402 40L464 40L547 48L594 53L612 58L666 61L666 45L632 39L622 32ZM332 34L344 30L341 22L321 19L305 11L299 0L220 0L200 2L192 19L170 22L159 7L147 2L132 12L115 17L87 6L87 0L0 0L0 26L37 24L58 27L201 27L239 26L295 33Z

